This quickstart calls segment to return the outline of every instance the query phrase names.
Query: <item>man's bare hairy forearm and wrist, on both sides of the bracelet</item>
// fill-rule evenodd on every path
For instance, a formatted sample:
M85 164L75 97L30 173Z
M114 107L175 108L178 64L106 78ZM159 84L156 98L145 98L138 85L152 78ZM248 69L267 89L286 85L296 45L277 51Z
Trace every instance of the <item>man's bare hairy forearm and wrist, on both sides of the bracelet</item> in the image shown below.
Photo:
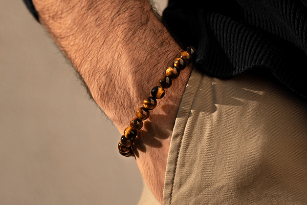
M33 3L41 24L122 133L183 50L146 0ZM135 139L138 167L161 204L170 137L190 73L187 66L166 89Z

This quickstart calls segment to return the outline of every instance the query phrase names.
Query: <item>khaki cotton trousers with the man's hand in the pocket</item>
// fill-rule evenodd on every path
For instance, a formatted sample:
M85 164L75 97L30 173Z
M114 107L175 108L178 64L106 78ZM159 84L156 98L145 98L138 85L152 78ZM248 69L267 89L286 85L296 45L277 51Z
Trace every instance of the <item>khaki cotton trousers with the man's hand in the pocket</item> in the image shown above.
M222 80L194 69L172 133L163 204L307 204L306 108L265 77ZM139 204L159 204L147 198Z

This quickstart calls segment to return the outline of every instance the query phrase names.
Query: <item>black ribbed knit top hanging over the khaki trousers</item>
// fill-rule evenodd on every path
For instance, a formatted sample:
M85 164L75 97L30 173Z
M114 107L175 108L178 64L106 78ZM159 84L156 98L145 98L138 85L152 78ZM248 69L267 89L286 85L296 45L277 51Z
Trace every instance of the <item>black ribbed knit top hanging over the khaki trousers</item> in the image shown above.
M203 72L227 78L270 71L306 99L307 2L174 1L163 22L182 47L194 45Z

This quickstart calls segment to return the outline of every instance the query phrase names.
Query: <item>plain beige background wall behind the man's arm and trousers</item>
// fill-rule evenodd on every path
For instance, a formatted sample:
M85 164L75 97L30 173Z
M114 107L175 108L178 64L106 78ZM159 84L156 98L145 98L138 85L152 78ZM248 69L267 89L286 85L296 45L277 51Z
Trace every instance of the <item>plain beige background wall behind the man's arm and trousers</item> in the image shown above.
M0 204L137 204L121 134L23 1L0 2Z

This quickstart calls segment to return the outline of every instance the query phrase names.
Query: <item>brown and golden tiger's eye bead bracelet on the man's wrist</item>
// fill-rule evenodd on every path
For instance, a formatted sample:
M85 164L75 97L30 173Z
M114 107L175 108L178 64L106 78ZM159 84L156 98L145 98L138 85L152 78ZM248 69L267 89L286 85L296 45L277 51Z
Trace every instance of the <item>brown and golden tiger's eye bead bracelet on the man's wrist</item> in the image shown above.
M124 130L124 134L120 138L118 150L121 155L134 156L131 146L137 136L137 131L143 127L143 120L149 117L149 110L156 108L157 99L161 99L165 94L164 89L169 88L172 80L178 78L180 71L192 62L192 56L195 55L195 52L194 47L188 47L180 54L180 57L174 59L173 66L168 67L165 75L160 78L159 86L153 87L151 96L143 100L143 107L136 110L136 117L130 120L130 126Z

